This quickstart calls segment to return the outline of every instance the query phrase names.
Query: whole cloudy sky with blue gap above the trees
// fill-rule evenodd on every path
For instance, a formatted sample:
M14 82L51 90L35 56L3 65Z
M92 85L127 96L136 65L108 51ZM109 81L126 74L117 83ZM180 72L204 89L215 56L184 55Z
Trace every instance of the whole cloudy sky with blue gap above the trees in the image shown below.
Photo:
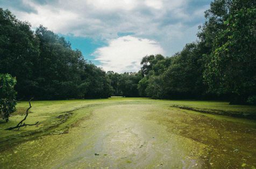
M142 57L172 56L196 40L211 0L0 0L18 19L64 36L105 71L133 72Z

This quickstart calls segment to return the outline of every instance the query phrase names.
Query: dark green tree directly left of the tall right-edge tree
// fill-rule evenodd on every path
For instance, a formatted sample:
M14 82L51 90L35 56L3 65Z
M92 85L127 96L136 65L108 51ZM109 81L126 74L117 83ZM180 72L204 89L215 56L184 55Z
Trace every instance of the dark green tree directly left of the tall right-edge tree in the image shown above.
M202 51L190 43L173 56L172 64L162 75L167 98L201 98L204 91Z

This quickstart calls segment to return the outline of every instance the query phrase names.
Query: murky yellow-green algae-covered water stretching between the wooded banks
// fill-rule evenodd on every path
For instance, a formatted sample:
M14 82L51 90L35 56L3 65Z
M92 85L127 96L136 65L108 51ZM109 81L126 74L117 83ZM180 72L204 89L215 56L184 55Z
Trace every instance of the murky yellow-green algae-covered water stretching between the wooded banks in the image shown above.
M54 110L68 107L72 110L70 107L74 106L74 102L65 108L61 104L58 102L59 108ZM6 144L7 148L0 152L0 167L256 167L255 121L182 110L170 104L170 101L125 98L77 102L70 117L49 129L51 132L37 137L27 135L26 141ZM196 106L189 102L182 104ZM37 109L35 106L32 110L33 118L45 116L35 113ZM255 107L240 109L254 111ZM49 123L45 121L45 126L38 128L44 129Z

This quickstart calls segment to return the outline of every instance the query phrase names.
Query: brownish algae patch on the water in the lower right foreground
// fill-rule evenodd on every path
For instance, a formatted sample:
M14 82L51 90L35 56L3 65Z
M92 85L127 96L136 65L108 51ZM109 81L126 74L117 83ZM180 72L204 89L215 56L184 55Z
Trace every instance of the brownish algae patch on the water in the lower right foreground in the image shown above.
M201 158L208 167L239 168L243 162L249 163L250 167L255 166L255 121L177 108L169 110L172 113L166 116L150 118L167 126L170 133L207 145L207 155Z

